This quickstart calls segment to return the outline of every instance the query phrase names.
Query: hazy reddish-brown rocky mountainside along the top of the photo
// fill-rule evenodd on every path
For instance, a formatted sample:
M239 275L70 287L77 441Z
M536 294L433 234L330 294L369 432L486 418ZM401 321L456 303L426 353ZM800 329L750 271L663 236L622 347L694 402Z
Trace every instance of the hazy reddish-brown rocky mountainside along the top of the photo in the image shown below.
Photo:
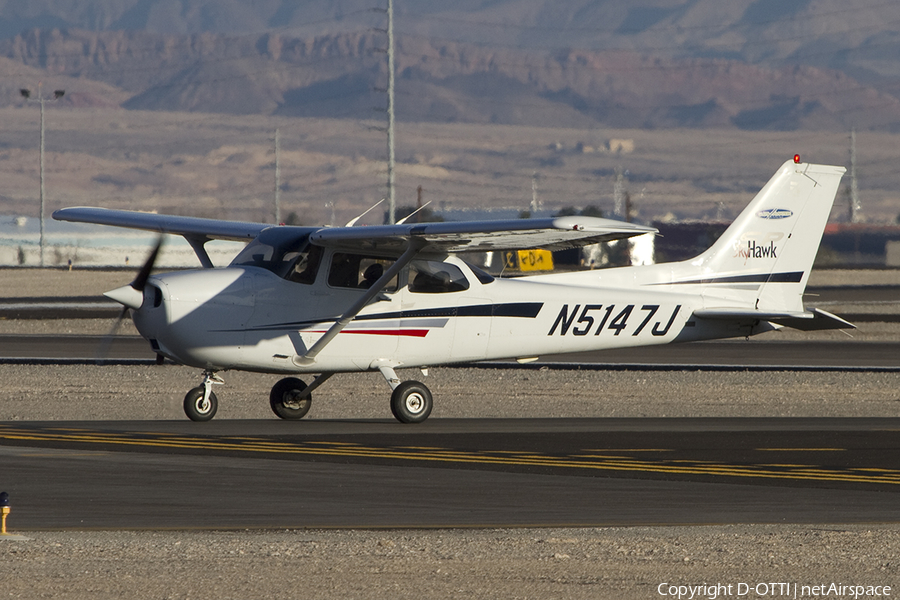
M65 102L128 109L370 119L385 106L385 36L372 29L384 17L368 4L176 4L0 8L0 105L64 77ZM397 114L896 130L898 20L900 4L874 0L397 3Z

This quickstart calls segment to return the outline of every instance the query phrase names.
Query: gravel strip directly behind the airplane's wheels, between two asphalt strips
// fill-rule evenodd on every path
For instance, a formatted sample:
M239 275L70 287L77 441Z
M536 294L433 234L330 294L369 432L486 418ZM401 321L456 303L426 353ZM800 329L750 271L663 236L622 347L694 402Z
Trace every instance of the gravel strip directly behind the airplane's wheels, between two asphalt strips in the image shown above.
M568 371L433 368L431 418L895 417L900 373ZM216 419L274 419L274 375L226 372ZM183 419L196 369L163 366L0 365L0 420ZM307 378L309 380L309 378ZM335 376L313 393L312 419L387 419L378 373Z

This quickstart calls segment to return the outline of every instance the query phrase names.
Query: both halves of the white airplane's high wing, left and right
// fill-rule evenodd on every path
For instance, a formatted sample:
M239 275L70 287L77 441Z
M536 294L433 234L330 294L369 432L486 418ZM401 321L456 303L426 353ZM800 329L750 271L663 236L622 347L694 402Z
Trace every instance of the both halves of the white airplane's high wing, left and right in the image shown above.
M199 248L198 255L203 250L203 244L209 240L249 241L264 229L272 227L265 223L86 207L63 208L54 212L53 218L181 235L195 250ZM310 241L318 246L343 251L377 250L399 256L413 239L420 253L450 254L525 248L562 250L656 232L652 227L610 219L558 217L321 228L313 229Z

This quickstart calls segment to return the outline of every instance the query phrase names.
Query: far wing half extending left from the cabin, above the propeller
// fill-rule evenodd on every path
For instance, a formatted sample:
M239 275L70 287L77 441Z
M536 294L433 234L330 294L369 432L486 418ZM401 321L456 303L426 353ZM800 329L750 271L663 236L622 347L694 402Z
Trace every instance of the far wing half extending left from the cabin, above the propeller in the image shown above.
M246 242L255 238L271 225L265 223L244 223L242 221L220 221L197 217L157 215L132 210L112 210L108 208L75 207L63 208L53 213L57 221L73 223L95 223L142 229L157 233L171 233L198 240L231 240Z

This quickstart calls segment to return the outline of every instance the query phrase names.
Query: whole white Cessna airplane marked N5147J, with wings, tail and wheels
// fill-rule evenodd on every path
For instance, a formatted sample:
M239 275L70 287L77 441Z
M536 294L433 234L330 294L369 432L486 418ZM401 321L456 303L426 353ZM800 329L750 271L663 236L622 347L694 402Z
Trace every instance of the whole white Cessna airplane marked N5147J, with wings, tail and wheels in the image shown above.
M709 250L683 262L495 279L458 255L560 249L655 229L590 217L286 227L102 208L54 219L184 236L203 269L150 276L106 295L132 310L161 357L203 369L184 410L212 419L219 371L290 375L271 390L282 419L309 411L335 373L380 371L391 411L424 421L432 395L395 369L744 337L783 326L853 325L802 295L843 167L787 161ZM225 268L213 239L249 244ZM306 385L295 375L317 373Z

